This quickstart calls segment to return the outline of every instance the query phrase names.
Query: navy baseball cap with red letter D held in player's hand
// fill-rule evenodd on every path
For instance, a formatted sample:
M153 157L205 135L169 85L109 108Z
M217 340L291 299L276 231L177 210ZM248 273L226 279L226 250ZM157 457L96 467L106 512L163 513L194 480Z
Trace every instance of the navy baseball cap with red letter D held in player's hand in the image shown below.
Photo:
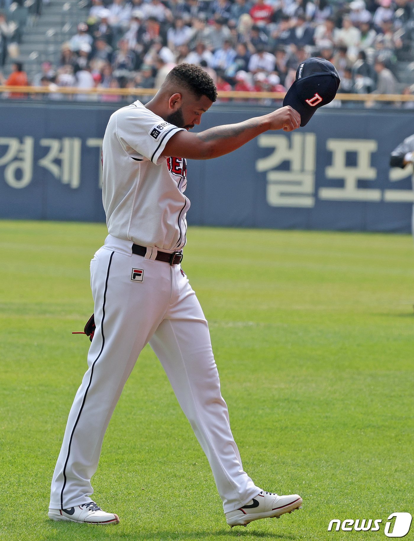
M338 71L331 62L325 58L308 58L300 63L283 104L298 111L300 126L306 126L318 107L333 100L339 83Z

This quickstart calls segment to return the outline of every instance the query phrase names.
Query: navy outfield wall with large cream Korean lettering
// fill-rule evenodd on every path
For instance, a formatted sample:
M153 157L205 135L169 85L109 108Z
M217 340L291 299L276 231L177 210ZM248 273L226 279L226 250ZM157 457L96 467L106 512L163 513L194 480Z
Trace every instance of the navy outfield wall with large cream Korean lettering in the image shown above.
M101 143L117 107L0 103L0 217L104 221ZM202 129L266 108L214 105ZM414 111L319 109L219 159L188 162L193 225L410 232L412 168L389 169ZM200 127L199 127L200 129Z

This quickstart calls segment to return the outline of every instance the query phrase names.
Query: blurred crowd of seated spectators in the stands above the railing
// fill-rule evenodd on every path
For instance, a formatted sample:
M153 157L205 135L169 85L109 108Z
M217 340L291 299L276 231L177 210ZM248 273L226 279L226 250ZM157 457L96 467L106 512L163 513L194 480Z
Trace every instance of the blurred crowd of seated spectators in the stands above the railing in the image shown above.
M44 62L31 83L54 90L159 88L174 65L190 62L219 90L285 91L301 61L321 56L336 66L340 92L396 94L397 63L412 55L413 6L413 0L92 0L87 20L62 46L60 65ZM0 36L1 64L10 37L4 14Z

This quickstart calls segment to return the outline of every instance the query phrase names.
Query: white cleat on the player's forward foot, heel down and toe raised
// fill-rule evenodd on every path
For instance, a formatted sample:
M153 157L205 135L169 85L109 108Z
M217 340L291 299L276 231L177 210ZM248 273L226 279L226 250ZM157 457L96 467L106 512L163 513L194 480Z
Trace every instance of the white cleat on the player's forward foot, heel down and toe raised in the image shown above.
M298 494L278 496L273 492L262 490L246 505L226 513L226 522L229 526L247 526L249 522L259 518L279 518L284 513L291 513L300 509L302 498Z

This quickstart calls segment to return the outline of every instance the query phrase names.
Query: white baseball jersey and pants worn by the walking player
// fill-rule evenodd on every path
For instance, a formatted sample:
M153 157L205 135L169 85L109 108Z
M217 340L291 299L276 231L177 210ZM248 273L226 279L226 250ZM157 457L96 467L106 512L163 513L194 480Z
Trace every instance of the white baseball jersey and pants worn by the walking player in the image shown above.
M155 259L186 243L186 160L163 154L180 129L139 101L110 117L103 139L109 235L90 264L96 331L52 479L52 509L90 501L104 433L148 342L206 453L224 511L261 490L242 469L199 301L180 265ZM145 255L133 245L146 247Z

